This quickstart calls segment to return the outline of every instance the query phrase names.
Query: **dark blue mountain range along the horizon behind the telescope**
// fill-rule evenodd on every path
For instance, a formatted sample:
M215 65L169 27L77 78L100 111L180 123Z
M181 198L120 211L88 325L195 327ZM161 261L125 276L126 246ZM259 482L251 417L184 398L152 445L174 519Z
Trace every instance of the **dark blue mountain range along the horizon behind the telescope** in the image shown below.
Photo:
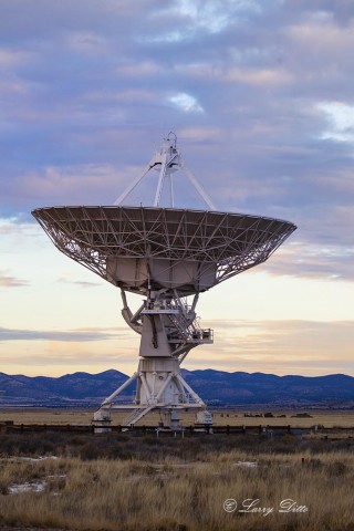
M186 371L186 382L210 405L352 405L354 377L344 374L329 376L275 376L263 373L227 373L222 371ZM50 378L0 373L1 405L98 405L127 379L118 371L100 374L74 373ZM123 399L131 400L135 384L128 386Z

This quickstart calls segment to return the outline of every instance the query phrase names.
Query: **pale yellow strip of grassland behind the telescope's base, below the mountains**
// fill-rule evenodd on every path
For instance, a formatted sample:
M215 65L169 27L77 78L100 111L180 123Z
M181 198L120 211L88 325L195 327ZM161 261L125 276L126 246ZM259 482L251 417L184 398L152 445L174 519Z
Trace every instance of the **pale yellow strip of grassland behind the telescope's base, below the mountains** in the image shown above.
M312 426L324 426L326 428L342 427L354 428L354 410L309 410L311 417L298 417L299 410L272 410L274 417L244 417L244 412L215 410L214 424L219 426L287 426L306 428ZM254 412L253 412L254 413ZM267 413L263 410L261 413ZM284 415L284 416L283 416ZM87 409L46 409L46 408L7 408L0 409L0 423L13 420L14 424L91 424L93 410ZM126 414L114 413L113 425L123 424ZM160 420L158 414L149 414L139 425L157 426ZM181 424L190 426L194 424L194 414L183 414Z

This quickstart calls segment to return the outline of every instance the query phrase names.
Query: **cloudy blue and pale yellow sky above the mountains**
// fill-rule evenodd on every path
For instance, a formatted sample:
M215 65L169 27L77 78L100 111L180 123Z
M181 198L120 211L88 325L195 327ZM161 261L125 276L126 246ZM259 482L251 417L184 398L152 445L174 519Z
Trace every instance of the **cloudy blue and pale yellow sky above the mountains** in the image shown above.
M353 49L351 0L0 0L0 372L136 369L119 291L31 210L113 205L173 131L218 210L298 226L200 295L184 367L354 376Z

